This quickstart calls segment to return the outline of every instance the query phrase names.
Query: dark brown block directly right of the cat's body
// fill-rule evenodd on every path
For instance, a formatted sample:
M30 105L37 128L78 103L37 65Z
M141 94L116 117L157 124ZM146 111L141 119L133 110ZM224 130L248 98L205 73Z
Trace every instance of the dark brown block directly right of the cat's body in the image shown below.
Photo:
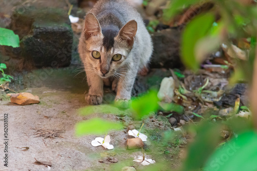
M181 68L179 58L180 31L164 29L152 34L154 46L151 58L151 68Z

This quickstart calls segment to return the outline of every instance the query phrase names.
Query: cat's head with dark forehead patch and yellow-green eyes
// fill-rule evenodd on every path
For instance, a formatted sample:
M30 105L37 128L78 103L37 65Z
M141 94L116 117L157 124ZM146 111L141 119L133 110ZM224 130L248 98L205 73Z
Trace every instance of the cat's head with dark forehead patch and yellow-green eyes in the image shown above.
M102 78L124 74L120 68L133 48L136 32L137 22L134 20L121 29L114 25L101 28L96 16L88 13L82 33L85 45L82 56L87 58L86 70Z

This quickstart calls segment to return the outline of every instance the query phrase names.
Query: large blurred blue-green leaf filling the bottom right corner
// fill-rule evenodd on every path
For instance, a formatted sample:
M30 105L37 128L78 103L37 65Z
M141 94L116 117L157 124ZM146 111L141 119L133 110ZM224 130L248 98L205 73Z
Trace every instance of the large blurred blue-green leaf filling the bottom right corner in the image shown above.
M257 134L247 131L218 148L204 170L257 170Z

